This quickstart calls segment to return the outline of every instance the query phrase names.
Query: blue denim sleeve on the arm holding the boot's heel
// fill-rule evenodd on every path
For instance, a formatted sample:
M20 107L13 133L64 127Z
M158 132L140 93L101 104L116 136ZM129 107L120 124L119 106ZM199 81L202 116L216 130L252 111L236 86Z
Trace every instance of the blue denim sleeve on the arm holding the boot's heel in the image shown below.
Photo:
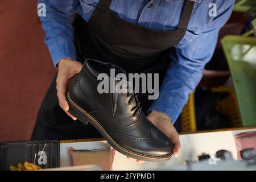
M76 60L72 18L78 0L38 0L38 3L46 5L46 16L40 17L40 20L46 34L44 42L49 49L53 64L56 67L64 58Z

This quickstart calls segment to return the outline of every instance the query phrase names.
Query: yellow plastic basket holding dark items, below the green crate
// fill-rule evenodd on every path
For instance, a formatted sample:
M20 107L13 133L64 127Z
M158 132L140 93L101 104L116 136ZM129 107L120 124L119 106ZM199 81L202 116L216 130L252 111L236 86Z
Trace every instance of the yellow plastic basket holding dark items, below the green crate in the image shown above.
M227 93L228 96L220 101L216 105L216 110L222 114L230 117L232 127L242 127L242 119L238 104L236 100L236 94L234 89L221 86L219 88L212 88L212 92ZM196 132L196 111L195 111L195 93L189 94L188 102L184 106L181 113L182 132L193 133Z

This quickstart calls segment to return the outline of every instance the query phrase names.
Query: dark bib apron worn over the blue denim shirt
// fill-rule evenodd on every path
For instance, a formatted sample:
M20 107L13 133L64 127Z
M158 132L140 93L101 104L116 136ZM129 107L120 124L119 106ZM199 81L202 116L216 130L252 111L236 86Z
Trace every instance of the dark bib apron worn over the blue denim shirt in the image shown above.
M170 63L171 48L187 30L194 2L185 1L179 26L172 31L155 31L126 22L109 9L111 2L100 0L87 23L76 16L73 27L77 60L83 63L89 57L108 61L128 73L159 73L160 85ZM73 121L59 107L55 79L39 110L32 139L101 137L92 125ZM147 94L139 94L139 99L146 111L152 100L147 100Z

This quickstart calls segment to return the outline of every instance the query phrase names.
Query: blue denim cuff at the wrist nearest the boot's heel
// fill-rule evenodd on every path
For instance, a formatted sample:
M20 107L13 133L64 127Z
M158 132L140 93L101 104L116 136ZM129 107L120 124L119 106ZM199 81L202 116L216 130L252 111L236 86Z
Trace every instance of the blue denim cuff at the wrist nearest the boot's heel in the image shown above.
M47 44L47 43L46 43ZM47 44L52 57L53 64L57 68L57 63L65 58L76 60L76 48L73 42L65 39L60 39L54 43Z

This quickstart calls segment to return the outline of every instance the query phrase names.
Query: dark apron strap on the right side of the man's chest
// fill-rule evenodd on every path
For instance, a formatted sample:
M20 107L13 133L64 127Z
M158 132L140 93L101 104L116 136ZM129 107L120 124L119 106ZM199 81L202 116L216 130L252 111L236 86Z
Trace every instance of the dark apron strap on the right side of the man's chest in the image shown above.
M185 0L185 5L183 7L183 11L181 13L179 26L177 29L187 29L189 20L191 18L191 14L193 11L193 7L195 5L195 2L191 0Z

